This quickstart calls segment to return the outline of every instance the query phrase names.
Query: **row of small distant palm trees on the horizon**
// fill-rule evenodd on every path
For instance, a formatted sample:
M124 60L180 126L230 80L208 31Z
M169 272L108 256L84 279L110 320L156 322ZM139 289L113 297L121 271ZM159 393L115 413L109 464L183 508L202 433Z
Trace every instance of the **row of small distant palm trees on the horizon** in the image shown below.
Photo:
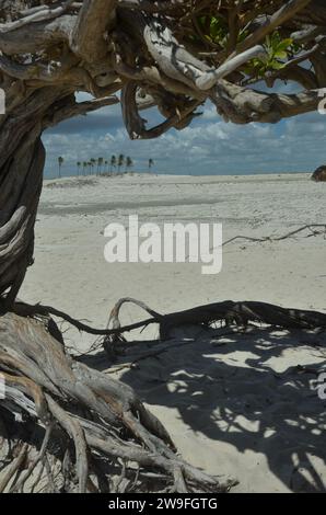
M62 167L65 164L65 159L60 156L58 157L58 176L61 178ZM133 160L129 156L112 156L109 159L105 158L91 158L88 161L78 161L77 165L77 175L119 175L132 171ZM154 160L148 160L149 172L152 172L154 167Z

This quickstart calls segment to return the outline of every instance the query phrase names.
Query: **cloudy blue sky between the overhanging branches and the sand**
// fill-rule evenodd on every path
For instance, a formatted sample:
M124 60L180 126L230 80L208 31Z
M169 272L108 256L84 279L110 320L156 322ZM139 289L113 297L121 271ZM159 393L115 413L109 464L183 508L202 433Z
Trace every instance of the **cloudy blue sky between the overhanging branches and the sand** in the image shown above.
M81 98L83 100L84 96ZM143 112L150 124L161 118ZM105 107L47 130L43 140L47 149L45 174L58 173L57 158L62 156L62 175L77 173L77 161L112 154L130 156L135 171L172 174L247 174L311 172L326 163L326 116L310 113L277 125L224 123L212 104L190 127L171 130L155 140L130 141L124 128L120 106Z

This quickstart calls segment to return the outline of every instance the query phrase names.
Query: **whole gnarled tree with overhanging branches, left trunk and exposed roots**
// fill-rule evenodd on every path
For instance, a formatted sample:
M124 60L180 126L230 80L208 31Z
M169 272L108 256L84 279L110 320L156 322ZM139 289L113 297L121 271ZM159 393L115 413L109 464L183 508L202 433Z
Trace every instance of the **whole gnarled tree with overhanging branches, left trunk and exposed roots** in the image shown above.
M277 79L299 84L300 91L273 92ZM44 461L51 433L59 431L55 421L62 432L56 435L62 438L57 456L63 464L62 490L73 490L65 474L69 459L80 491L104 490L108 471L120 467L126 474L126 462L144 471L137 477L139 488L228 489L175 455L166 431L130 388L66 354L50 309L16 301L33 263L43 130L120 102L130 138L155 138L186 127L208 99L226 122L277 123L315 111L325 87L323 0L0 0L0 88L5 92L5 114L0 115L0 370L7 381L0 416L7 416L3 408L22 410L27 426L37 423L44 431L39 454L12 483L31 448L23 446L1 476L0 490L24 487ZM94 100L78 103L79 91ZM140 113L153 106L165 121L149 128ZM283 327L326 325L318 313L266 305L222 308L218 313L216 306L174 313L173 324L184 323L185 317L197 323L231 317ZM165 329L171 322L151 316ZM119 334L116 311L113 321L113 330L93 332ZM149 469L161 473L149 476Z

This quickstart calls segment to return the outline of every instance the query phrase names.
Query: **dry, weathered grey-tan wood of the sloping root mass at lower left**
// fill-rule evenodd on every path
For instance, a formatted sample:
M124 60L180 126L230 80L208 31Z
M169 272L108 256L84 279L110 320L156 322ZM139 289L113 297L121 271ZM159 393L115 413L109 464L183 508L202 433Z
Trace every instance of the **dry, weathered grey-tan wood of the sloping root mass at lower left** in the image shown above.
M22 489L36 465L44 459L54 423L59 424L74 443L79 492L88 491L91 456L95 449L104 464L107 456L117 467L119 459L124 459L137 462L141 468L162 470L165 488L176 491L226 491L233 484L220 483L184 462L175 454L165 428L145 410L131 388L67 356L43 322L7 313L0 318L0 350L8 356L0 360L0 370L5 379L13 370L22 376L21 380L9 384L19 388L20 396L18 398L16 391L9 388L1 401L0 415L3 409L13 414L25 413L46 430L39 454L12 485L13 490ZM40 416L31 394L31 384L44 392L46 419ZM7 484L9 471L3 472L3 484ZM156 487L152 484L151 488Z

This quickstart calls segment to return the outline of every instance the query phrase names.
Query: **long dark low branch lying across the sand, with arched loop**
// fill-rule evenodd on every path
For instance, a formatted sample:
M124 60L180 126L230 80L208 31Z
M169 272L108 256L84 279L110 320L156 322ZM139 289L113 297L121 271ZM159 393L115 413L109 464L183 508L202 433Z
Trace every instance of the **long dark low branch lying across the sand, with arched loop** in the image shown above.
M283 238L283 237L282 237ZM135 304L149 312L152 317L139 322L128 325L120 324L119 313L125 304ZM1 307L1 301L0 301ZM66 322L73 325L75 329L89 334L104 336L104 342L107 344L120 341L120 335L126 332L145 329L151 324L159 324L161 337L166 331L166 328L183 325L183 324L212 324L216 322L235 322L240 325L246 325L248 322L259 322L268 325L282 327L284 329L291 328L326 328L326 313L311 310L289 309L280 306L257 302L257 301L233 301L224 300L221 302L209 304L199 306L185 311L175 313L161 314L149 308L144 302L132 298L123 298L114 307L110 312L107 329L92 328L63 311L57 310L50 306L35 305L31 306L25 302L16 302L12 307L12 311L21 317L46 317L47 321L49 316L61 318ZM54 321L51 320L51 328ZM56 328L56 324L55 324ZM57 330L58 331L58 330ZM53 334L54 335L54 334ZM55 337L58 334L56 333ZM59 339L60 341L60 339ZM61 340L62 343L62 340Z

